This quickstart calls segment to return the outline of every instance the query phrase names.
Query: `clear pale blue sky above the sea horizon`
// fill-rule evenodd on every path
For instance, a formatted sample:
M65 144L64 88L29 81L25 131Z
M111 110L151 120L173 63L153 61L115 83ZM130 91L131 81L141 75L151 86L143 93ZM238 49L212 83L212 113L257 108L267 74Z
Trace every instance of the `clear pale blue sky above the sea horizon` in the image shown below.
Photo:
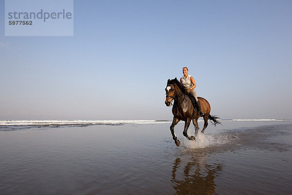
M73 37L5 37L0 120L172 119L187 66L221 118L292 118L291 0L74 0Z

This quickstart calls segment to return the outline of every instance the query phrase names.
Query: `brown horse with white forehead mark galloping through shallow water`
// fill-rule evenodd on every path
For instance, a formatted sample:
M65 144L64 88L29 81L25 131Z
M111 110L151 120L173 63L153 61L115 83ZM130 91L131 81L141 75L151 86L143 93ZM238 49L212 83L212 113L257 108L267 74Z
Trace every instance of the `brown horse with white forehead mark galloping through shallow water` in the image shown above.
M174 139L174 142L177 146L181 145L181 142L178 140L174 133L174 126L178 124L180 120L184 121L184 130L183 130L183 136L188 138L189 140L195 140L194 136L189 136L187 134L187 129L190 126L191 120L193 121L193 124L195 126L195 135L198 134L198 130L200 129L198 125L198 118L199 112L196 108L194 108L194 105L192 103L191 98L189 95L187 95L186 90L183 88L180 81L177 80L177 78L174 78L172 80L167 80L167 86L165 88L166 91L166 99L165 104L166 106L171 106L172 101L174 100L174 104L172 107L172 114L173 114L173 121L170 126L170 131L172 134L172 138ZM221 124L218 120L219 117L210 115L211 106L209 102L201 97L198 97L198 100L201 103L201 111L204 113L204 128L201 131L204 133L205 129L208 126L208 119L213 123L215 126L216 124ZM194 110L195 109L195 110Z

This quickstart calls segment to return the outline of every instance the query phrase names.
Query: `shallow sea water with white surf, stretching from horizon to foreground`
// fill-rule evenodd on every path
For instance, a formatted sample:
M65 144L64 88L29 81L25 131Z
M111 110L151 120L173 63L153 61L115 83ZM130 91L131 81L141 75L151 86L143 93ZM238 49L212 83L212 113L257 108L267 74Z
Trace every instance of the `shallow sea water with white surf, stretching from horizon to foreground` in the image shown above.
M180 122L180 147L170 124L0 121L0 195L292 193L291 120L222 120L195 141Z

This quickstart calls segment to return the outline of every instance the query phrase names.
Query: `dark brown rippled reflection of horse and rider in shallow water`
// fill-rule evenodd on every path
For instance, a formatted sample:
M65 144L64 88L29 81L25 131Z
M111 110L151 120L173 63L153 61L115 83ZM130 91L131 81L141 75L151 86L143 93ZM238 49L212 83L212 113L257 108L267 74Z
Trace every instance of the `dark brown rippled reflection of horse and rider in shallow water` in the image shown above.
M205 156L196 156L183 168L180 173L181 158L177 158L173 163L171 182L176 190L176 195L212 195L215 193L214 179L222 170L220 164L209 165ZM182 180L178 179L183 178Z

